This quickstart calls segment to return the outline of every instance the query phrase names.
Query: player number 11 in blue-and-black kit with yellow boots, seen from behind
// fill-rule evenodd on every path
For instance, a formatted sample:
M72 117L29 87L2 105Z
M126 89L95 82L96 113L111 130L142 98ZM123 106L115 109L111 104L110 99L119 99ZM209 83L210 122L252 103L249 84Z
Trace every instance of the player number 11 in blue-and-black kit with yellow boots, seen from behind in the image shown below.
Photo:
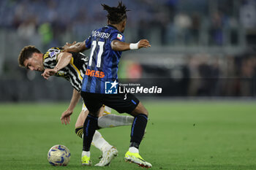
M116 109L119 113L127 112L134 116L131 129L129 150L125 154L126 161L137 163L139 166L150 168L151 163L146 162L139 155L139 145L143 139L148 121L148 111L138 98L130 93L106 94L105 83L111 82L113 87L118 84L118 63L124 50L137 50L141 47L151 47L148 40L141 39L138 43L124 42L124 28L127 23L127 7L119 2L118 7L109 7L102 4L108 11L108 26L96 29L85 42L70 45L65 50L80 52L91 49L86 75L83 77L81 96L89 115L84 123L82 164L91 165L91 140L97 129L99 109L102 104Z

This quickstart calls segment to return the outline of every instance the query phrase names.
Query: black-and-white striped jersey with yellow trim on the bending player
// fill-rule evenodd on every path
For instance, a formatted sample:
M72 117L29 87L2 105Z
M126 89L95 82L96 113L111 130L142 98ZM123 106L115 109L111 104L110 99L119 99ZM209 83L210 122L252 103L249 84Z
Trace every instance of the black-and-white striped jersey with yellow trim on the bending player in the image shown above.
M43 64L45 69L53 69L56 66L58 63L57 56L61 53L61 50L62 49L60 47L52 47L43 55ZM72 53L70 63L63 69L59 70L55 76L64 77L71 83L73 88L80 91L83 82L83 75L86 74L88 60L88 57L83 53Z

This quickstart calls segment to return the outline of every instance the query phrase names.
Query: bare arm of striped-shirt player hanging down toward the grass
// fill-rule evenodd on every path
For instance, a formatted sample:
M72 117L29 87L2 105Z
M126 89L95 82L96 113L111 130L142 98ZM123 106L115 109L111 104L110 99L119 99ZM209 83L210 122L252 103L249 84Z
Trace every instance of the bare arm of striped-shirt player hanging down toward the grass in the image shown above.
M67 123L68 124L70 123L70 115L72 115L73 110L75 109L75 106L78 104L79 99L80 99L80 93L78 90L75 90L74 88L69 107L61 115L62 124L65 123L65 125L67 125Z

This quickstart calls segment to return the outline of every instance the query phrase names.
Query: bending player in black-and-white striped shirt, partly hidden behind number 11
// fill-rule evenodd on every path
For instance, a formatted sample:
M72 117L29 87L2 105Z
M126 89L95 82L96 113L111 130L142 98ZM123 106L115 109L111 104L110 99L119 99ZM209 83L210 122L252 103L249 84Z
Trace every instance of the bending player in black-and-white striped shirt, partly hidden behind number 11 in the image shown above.
M70 122L70 115L72 115L73 109L80 99L80 90L83 75L86 74L87 62L88 57L86 57L86 55L82 53L67 53L59 47L52 47L43 54L34 46L26 46L23 47L18 57L18 63L21 67L32 71L43 72L42 76L45 77L45 79L54 75L64 77L71 83L74 88L72 99L68 109L61 115L61 122L66 125ZM99 128L132 125L133 117L113 115L110 114L110 112L111 109L109 107L101 108L100 115L104 116L99 118ZM88 113L88 109L83 104L83 109L75 124L75 133L81 138L83 138L83 123ZM96 131L94 134L92 143L102 151L102 159L95 166L108 166L110 161L118 153L116 147L108 144L99 131Z

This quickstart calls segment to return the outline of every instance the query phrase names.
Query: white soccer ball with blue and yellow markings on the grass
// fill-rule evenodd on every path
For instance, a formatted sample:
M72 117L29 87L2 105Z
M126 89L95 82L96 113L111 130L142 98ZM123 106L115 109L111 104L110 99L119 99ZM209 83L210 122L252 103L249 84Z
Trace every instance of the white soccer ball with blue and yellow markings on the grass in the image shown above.
M48 152L48 162L53 166L67 166L70 161L70 152L67 147L56 144L50 147Z

